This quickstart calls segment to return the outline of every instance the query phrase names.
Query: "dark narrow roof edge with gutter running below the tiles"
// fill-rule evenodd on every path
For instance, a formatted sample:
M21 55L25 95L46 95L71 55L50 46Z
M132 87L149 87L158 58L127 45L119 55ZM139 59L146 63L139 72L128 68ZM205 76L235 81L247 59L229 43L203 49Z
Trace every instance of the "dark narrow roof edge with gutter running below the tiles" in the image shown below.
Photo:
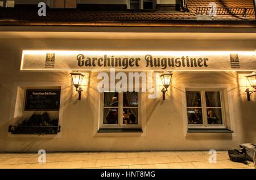
M256 27L255 20L157 20L157 21L109 21L109 20L0 20L5 25L88 26L88 27Z

